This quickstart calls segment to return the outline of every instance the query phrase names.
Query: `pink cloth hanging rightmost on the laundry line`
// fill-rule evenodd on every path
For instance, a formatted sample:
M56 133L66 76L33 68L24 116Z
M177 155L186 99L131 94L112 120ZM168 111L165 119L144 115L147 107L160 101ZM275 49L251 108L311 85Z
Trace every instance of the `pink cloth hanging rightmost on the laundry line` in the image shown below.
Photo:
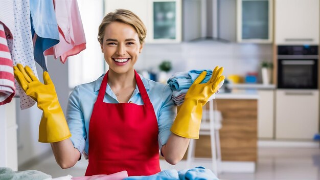
M85 46L85 35L77 0L55 0L60 42L46 50L44 55L54 55L65 63L68 56L79 54Z

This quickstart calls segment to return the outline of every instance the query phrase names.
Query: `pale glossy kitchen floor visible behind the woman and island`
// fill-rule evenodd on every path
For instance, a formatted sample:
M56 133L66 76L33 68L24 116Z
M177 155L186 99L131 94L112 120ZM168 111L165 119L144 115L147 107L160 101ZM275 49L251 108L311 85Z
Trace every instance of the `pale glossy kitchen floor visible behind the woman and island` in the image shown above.
M258 163L255 173L221 173L220 179L320 179L320 149L319 148L266 148L258 150ZM161 168L177 170L184 169L184 162L176 166L168 165L161 161ZM87 161L82 158L74 167L61 169L51 155L43 162L29 167L52 177L65 176L67 174L74 177L83 176L87 166ZM197 166L197 165L195 165ZM21 170L21 169L19 169ZM27 169L24 169L27 170Z

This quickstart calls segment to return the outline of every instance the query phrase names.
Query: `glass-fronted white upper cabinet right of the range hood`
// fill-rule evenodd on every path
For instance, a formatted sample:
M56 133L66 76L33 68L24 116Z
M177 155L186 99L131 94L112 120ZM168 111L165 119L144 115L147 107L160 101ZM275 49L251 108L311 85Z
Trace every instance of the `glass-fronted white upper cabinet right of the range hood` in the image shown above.
M237 0L238 42L272 42L272 1Z

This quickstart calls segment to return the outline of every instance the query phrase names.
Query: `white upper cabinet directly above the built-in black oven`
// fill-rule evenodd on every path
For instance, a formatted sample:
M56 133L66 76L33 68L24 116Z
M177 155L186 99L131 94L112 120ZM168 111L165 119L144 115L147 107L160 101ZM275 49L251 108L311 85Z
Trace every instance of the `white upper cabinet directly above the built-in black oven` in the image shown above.
M275 0L276 44L318 44L319 10L319 0Z

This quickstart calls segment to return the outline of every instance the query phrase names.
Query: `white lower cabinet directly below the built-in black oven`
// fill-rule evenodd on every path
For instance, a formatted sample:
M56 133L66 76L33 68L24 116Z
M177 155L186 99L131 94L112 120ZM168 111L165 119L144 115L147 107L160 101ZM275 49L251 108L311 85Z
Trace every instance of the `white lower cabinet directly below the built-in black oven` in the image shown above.
M276 92L276 139L312 140L319 131L318 90Z

